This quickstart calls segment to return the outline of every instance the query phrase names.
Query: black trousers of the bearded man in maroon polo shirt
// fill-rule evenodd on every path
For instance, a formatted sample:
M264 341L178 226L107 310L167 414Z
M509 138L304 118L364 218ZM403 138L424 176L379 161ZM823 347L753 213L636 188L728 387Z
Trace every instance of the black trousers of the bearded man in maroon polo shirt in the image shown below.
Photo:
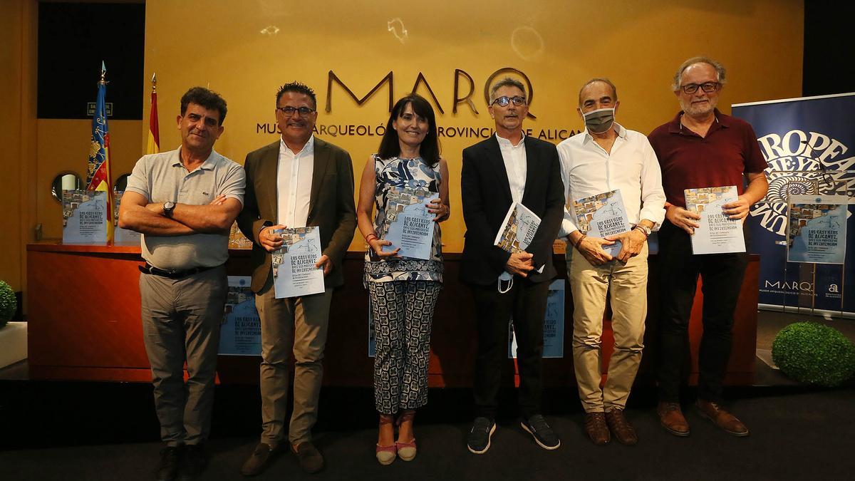
M687 373L688 325L698 276L704 293L704 334L698 353L698 397L721 401L722 379L730 359L734 311L745 276L745 252L693 255L683 229L665 221L659 230L660 401L677 402Z

